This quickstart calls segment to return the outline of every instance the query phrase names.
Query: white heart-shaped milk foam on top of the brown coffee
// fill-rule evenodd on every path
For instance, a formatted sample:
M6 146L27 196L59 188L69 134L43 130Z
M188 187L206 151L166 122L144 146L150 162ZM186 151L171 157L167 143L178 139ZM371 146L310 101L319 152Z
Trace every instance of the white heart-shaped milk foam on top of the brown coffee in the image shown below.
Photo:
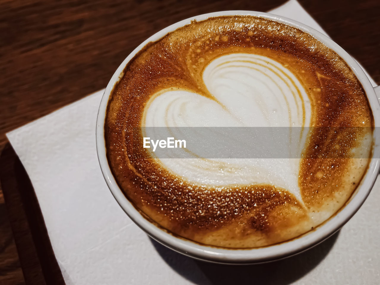
M223 55L207 65L203 81L214 98L190 90L161 90L144 109L142 125L166 127L168 134L175 139L186 139L177 127L310 125L310 100L301 82L286 67L268 57L244 53ZM300 154L305 146L307 133L302 132L302 128L297 129L301 133L290 129L289 136L284 138L284 143L291 146L290 155L294 151ZM158 135L155 128L144 131L144 136L154 138ZM223 133L217 136L223 139ZM297 158L211 160L202 158L203 154L192 149L191 145L176 151L190 152L193 158L156 159L166 169L189 182L213 186L271 184L288 190L302 201Z

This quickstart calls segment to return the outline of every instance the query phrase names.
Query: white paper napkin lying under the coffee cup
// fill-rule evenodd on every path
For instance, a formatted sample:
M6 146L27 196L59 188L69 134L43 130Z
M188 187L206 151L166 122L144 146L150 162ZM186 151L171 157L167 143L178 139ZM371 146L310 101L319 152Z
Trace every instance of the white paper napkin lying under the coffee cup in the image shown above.
M271 13L324 32L295 0ZM220 266L152 242L116 203L100 171L95 123L103 91L7 134L32 181L67 285L378 284L379 180L339 235L284 261Z

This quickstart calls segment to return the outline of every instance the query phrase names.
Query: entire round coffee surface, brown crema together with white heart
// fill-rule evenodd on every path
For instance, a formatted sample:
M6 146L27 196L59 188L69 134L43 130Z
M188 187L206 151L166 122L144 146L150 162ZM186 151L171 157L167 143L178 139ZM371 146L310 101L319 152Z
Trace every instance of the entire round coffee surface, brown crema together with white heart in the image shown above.
M152 223L253 248L307 233L344 206L366 172L373 125L335 52L296 28L234 16L192 22L138 52L109 99L105 139L120 188ZM289 158L209 158L191 145L176 150L186 158L163 158L143 147L162 130L204 136L181 132L192 127L287 127Z

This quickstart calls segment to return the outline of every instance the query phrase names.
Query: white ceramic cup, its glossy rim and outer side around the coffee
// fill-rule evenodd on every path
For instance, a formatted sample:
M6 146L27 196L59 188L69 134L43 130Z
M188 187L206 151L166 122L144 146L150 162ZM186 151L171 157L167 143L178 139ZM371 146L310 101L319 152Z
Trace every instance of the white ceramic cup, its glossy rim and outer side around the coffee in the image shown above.
M358 187L356 188L355 193L351 196L349 202L336 215L331 217L327 222L318 226L315 230L306 233L303 236L293 239L291 241L282 242L281 244L271 245L268 247L245 250L222 249L196 244L195 242L175 237L167 233L166 231L161 230L154 224L150 223L148 220L142 217L142 215L124 196L123 192L117 185L116 180L112 176L106 158L104 138L106 107L110 93L112 92L112 89L114 88L115 84L119 81L120 78L122 78L123 69L125 68L127 63L147 43L151 41L157 41L163 36L165 36L167 33L172 32L184 25L190 24L190 22L193 20L202 21L206 20L209 17L232 15L259 16L265 19L271 19L280 23L299 28L300 30L314 36L317 40L321 41L326 46L334 50L350 66L350 68L353 70L356 77L362 84L367 94L370 107L372 108L375 127L380 127L380 105L378 101L378 97L380 97L380 86L375 87L374 89L370 84L369 79L367 78L364 71L359 67L358 63L356 63L356 61L347 52L345 52L344 49L342 49L340 46L334 43L334 41L332 41L330 38L314 30L313 28L310 28L291 19L287 19L285 17L253 11L223 11L199 15L170 25L169 27L164 28L160 32L155 33L153 36L151 36L138 47L136 47L136 49L133 52L131 52L130 55L128 55L128 57L122 62L119 68L117 68L116 72L111 78L111 81L109 81L100 103L96 129L97 152L101 171L103 172L103 175L105 177L109 189L112 192L112 195L115 197L120 207L122 207L122 209L127 213L127 215L133 220L133 222L135 222L150 237L160 242L161 244L169 247L170 249L173 249L187 256L197 258L199 260L230 264L262 263L294 255L296 253L309 249L314 245L317 245L321 241L334 234L337 230L339 230L355 214L355 212L358 211L359 207L364 203L364 200L367 198L370 190L372 189L377 174L379 172L380 156L378 153L378 147L376 147L379 143L378 141L375 141L375 151L373 157L371 158L367 173L361 180L360 185L358 185ZM378 96L376 95L376 93L378 94Z

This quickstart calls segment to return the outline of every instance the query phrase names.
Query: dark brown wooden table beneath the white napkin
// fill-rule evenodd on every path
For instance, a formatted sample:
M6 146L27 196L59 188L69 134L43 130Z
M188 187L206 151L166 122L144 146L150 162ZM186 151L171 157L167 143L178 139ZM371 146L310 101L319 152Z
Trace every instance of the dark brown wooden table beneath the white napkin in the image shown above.
M301 4L380 83L380 2ZM278 1L0 0L0 283L64 284L32 185L7 131L104 88L148 36L197 14Z

